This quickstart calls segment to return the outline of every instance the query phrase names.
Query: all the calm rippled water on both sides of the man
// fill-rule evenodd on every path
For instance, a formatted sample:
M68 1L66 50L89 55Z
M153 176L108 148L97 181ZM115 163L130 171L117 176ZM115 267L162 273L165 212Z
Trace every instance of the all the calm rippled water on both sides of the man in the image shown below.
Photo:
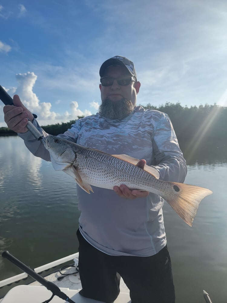
M213 303L227 302L227 161L211 162L188 166L185 183L214 191L193 227L167 203L163 208L176 303L205 302L203 289ZM31 155L20 138L0 137L1 253L8 250L31 268L73 254L79 215L73 178ZM0 257L0 280L20 272Z

